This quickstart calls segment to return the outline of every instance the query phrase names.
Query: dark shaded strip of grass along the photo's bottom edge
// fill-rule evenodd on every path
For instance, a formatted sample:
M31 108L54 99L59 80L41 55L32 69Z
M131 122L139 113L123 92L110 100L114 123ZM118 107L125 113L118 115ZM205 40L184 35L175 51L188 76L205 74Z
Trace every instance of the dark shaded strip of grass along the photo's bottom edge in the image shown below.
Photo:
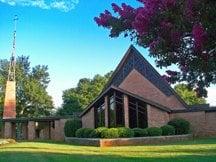
M44 153L44 152L1 152L1 162L202 162L215 161L216 156L184 155L171 157L125 157L116 155L88 155L88 154L64 154L64 153Z

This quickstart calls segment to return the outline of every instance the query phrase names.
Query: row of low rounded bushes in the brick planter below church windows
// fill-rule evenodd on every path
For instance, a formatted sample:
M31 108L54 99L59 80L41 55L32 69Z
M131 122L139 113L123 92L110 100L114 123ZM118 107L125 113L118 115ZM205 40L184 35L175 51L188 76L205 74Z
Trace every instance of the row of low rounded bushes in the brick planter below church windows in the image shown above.
M186 134L189 132L190 123L182 120L175 119L169 122L169 125L164 125L161 128L151 127L146 129L141 128L106 128L99 127L93 128L80 128L76 131L75 135L78 138L130 138L130 137L146 137L146 136L161 136L161 135L174 135Z

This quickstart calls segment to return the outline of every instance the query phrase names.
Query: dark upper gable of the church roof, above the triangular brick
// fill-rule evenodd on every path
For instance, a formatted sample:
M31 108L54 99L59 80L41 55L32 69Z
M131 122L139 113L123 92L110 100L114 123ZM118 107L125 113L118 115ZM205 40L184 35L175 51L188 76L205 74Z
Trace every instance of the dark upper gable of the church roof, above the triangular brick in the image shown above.
M104 90L112 85L118 87L133 69L136 69L166 96L174 95L184 105L184 107L188 107L181 97L170 87L170 85L133 45L129 47L123 59L113 72L113 75Z

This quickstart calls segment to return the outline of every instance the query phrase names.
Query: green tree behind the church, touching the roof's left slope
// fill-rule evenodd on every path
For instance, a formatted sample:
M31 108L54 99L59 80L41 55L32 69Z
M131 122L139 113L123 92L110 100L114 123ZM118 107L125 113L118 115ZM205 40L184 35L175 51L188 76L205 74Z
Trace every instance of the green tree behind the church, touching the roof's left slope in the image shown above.
M77 87L65 90L62 95L62 108L58 109L57 115L72 115L86 108L103 90L111 74L112 72L104 76L97 74L93 79L82 78Z

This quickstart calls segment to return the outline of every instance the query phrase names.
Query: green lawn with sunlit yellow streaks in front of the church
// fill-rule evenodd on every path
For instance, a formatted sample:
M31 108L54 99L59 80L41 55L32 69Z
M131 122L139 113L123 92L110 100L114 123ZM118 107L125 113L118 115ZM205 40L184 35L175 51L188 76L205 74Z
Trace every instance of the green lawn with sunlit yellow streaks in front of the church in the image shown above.
M216 161L216 138L166 145L84 147L52 141L18 142L0 147L0 162Z

